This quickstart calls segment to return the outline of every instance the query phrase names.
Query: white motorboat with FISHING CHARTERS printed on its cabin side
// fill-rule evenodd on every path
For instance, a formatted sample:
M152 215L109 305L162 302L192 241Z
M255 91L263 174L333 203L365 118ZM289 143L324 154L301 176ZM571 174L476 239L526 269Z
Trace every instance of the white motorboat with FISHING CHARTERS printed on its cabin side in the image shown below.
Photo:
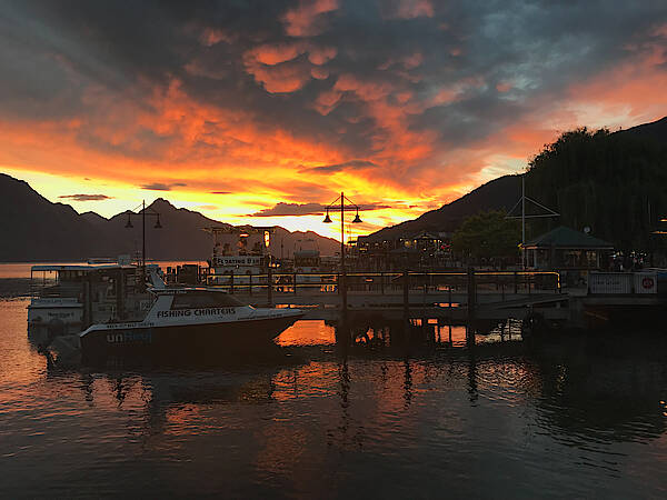
M81 349L96 353L179 352L270 341L302 318L299 309L253 308L206 287L155 288L141 321L97 323L82 331Z

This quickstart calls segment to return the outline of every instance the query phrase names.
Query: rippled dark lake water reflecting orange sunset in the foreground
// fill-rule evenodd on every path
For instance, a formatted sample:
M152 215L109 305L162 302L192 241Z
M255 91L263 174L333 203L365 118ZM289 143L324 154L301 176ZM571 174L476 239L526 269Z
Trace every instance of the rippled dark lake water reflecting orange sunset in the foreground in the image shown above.
M456 327L270 356L51 368L0 300L0 497L666 498L667 342ZM372 337L372 336L371 336Z

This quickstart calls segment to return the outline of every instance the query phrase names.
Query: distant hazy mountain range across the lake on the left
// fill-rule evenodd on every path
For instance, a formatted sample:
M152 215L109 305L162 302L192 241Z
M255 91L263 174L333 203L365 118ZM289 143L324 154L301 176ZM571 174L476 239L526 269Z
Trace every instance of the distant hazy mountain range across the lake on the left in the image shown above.
M146 254L153 260L206 260L211 256L212 238L203 228L230 227L199 212L179 209L158 198L147 207ZM141 218L127 213L106 219L94 212L77 213L69 204L52 203L27 182L0 173L0 261L79 261L90 257L115 258L141 251ZM312 231L276 228L275 242L281 242L283 257L299 248L319 249L331 256L340 243ZM280 244L280 243L277 243ZM279 256L277 256L279 257Z

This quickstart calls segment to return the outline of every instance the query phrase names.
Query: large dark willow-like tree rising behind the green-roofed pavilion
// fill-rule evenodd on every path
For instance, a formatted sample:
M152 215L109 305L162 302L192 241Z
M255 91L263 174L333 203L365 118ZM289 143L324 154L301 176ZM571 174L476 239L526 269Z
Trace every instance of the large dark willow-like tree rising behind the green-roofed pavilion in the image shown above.
M555 224L589 227L618 249L650 251L664 244L651 231L667 214L667 140L634 130L565 132L530 160L526 189L560 213L530 221L532 237Z

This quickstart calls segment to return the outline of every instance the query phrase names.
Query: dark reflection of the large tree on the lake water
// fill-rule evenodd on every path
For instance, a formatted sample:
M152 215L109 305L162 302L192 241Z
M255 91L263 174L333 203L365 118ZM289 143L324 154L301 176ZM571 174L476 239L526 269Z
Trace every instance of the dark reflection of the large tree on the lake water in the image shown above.
M639 346L636 342L639 341ZM641 336L568 339L534 348L539 418L565 442L624 442L665 432L667 343Z

